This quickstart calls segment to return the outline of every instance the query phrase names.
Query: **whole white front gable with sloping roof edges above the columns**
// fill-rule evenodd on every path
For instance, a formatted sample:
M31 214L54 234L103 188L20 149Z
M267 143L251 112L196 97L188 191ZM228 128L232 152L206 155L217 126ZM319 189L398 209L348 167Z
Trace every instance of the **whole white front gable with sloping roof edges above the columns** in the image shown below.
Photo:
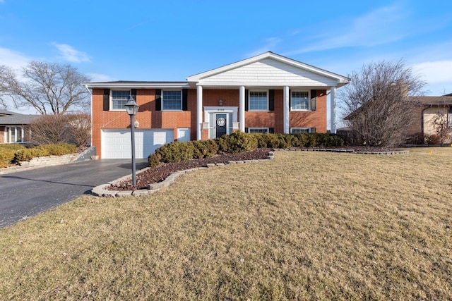
M324 85L341 87L350 78L268 51L249 59L191 75L187 81L207 85ZM268 80L267 80L268 79ZM279 81L278 81L279 80Z

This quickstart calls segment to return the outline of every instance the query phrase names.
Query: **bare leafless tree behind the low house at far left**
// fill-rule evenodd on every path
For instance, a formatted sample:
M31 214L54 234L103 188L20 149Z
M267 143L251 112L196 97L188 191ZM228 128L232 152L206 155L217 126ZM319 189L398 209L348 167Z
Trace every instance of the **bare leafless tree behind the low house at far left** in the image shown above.
M11 97L16 107L35 108L43 115L89 111L88 90L81 86L89 78L71 65L31 61L19 80L11 68L0 68L0 98Z

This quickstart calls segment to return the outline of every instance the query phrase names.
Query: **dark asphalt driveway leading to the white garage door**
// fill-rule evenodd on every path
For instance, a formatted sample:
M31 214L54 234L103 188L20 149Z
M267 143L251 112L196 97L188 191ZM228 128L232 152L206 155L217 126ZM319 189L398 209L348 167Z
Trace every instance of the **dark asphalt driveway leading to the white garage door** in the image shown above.
M136 170L148 166L136 160ZM102 159L0 176L0 228L69 202L131 173L130 159Z

